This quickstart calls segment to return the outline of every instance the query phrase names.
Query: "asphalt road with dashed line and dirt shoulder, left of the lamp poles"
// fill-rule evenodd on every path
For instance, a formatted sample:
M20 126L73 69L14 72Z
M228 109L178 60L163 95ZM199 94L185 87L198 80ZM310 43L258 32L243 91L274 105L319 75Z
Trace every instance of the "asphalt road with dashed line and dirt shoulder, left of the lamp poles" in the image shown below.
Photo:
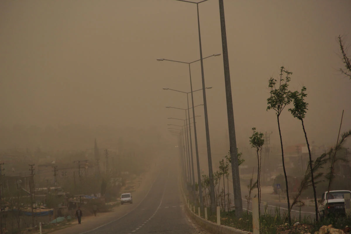
M106 218L106 223L94 227L84 222L83 217L81 225L61 231L69 234L198 233L185 215L179 189L177 167L161 169L142 200L133 196L133 204L119 207L120 212Z

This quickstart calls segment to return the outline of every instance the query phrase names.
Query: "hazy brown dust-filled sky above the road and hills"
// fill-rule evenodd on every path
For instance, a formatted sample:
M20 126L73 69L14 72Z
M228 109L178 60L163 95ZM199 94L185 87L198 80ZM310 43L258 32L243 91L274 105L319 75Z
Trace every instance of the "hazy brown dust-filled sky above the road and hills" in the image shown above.
M350 0L226 0L225 17L238 144L251 128L273 131L266 111L268 79L285 66L292 90L307 87L305 126L311 141L335 142L351 128L351 81L337 36L351 45ZM218 1L199 5L203 56L222 53ZM185 64L156 61L199 59L196 5L174 0L1 1L0 125L147 128L165 136L167 123L183 122L190 91ZM351 52L351 49L349 49ZM349 53L351 54L351 53ZM200 63L192 65L193 88L201 88ZM211 139L227 131L223 58L204 60ZM203 103L201 92L194 104ZM196 108L199 144L205 144L203 107ZM285 110L284 141L304 142L300 122Z

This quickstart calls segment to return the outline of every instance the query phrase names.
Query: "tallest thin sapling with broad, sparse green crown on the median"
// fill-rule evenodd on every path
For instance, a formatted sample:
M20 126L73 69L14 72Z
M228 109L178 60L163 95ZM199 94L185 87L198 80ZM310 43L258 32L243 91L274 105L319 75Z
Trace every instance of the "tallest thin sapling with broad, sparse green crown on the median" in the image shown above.
M282 114L284 108L289 105L293 99L293 93L288 90L289 82L291 80L290 75L292 72L287 71L283 66L280 67L280 78L279 81L270 78L268 87L270 88L270 97L267 99L267 111L273 109L276 111L277 115L277 122L278 122L278 129L279 129L279 137L280 137L280 146L282 148L282 162L283 162L283 171L285 177L285 184L286 184L286 199L287 199L287 206L290 207L290 200L289 200L289 188L287 182L287 175L285 170L285 162L284 162L284 150L283 150L283 140L282 140L282 132L280 131L280 122L279 116ZM289 223L291 223L291 216L290 210L287 213Z

